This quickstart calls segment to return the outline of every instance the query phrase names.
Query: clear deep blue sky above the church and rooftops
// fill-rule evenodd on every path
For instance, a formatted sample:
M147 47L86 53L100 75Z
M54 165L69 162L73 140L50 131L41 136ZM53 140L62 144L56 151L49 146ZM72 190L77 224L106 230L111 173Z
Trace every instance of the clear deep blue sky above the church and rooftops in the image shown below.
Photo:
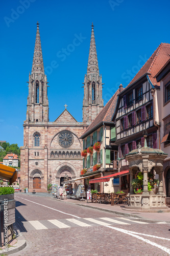
M91 23L106 104L120 83L127 86L161 42L170 43L169 7L168 0L1 0L0 140L23 145L37 21L50 86L50 121L62 113L65 103L71 115L82 121ZM80 45L71 48L80 34ZM63 48L70 51L61 58ZM57 63L52 68L53 61Z

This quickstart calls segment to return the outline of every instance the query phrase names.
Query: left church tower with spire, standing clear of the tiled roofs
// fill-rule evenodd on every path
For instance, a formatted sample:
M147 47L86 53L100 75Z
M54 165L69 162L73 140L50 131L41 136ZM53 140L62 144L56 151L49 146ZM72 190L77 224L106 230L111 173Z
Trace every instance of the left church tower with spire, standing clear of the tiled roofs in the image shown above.
M48 122L47 79L44 74L39 23L34 48L32 72L29 75L29 96L27 98L28 122Z

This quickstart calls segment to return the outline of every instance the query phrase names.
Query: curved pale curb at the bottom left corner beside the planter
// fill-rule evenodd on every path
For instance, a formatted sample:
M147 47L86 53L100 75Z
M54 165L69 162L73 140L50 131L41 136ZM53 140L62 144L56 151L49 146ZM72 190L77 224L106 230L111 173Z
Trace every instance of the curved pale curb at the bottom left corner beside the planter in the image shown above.
M26 240L23 238L23 236L22 236L21 232L18 230L16 224L14 224L13 227L15 230L17 229L17 233L18 233L17 242L13 246L9 247L7 252L3 251L3 249L2 249L2 252L0 252L0 255L2 255L2 254L8 255L8 254L18 252L27 246Z

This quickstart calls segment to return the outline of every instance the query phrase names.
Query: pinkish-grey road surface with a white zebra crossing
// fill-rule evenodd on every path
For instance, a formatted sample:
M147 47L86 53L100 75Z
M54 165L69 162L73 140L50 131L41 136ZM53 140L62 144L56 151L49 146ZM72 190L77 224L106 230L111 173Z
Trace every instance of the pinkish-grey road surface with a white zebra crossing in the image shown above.
M27 247L13 256L170 255L170 224L140 222L50 197L16 194Z

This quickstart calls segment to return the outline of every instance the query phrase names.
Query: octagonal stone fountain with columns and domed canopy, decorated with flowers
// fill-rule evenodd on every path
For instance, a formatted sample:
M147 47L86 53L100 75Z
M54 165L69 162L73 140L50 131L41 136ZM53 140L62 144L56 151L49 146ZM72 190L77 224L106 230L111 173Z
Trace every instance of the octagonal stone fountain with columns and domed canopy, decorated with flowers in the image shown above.
M143 193L134 194L133 186L130 186L128 194L128 206L125 210L158 212L160 210L167 211L165 205L166 195L163 193L163 161L167 154L157 148L147 146L147 135L144 135L144 146L138 145L136 150L132 150L126 155L130 169L130 184L133 176L138 172L143 173ZM150 194L148 190L148 173L155 170L159 175L159 187L157 194Z

